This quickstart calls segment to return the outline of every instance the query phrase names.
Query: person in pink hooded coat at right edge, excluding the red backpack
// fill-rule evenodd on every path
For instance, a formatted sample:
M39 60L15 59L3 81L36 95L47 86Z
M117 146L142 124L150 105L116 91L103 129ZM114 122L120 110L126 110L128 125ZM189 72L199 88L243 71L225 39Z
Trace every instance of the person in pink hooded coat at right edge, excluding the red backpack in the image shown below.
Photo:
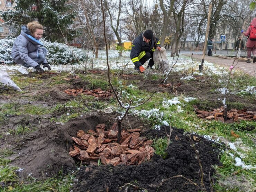
M245 36L248 36L246 47L247 47L247 63L251 63L251 52L253 52L253 62L256 62L256 40L250 40L250 32L251 30L256 27L256 18L253 18L250 26L248 27L247 31L244 33ZM243 30L241 31L244 32Z

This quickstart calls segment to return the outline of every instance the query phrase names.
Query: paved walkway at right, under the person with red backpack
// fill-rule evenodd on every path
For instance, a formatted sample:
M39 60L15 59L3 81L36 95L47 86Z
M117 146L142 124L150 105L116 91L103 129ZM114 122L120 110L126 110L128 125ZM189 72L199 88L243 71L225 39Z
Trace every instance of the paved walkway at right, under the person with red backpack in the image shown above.
M191 54L182 54L182 55L191 57ZM202 61L202 55L193 54L193 59L194 58ZM210 56L205 55L204 61L215 63L215 64L225 66L225 67L230 67L234 60L223 59L223 58L214 57L214 56L210 57ZM251 62L252 62L252 60L251 60ZM236 63L237 62L235 62L234 65L236 65ZM256 63L253 63L253 62L246 63L246 61L239 61L234 69L241 70L241 71L244 71L245 73L256 76Z

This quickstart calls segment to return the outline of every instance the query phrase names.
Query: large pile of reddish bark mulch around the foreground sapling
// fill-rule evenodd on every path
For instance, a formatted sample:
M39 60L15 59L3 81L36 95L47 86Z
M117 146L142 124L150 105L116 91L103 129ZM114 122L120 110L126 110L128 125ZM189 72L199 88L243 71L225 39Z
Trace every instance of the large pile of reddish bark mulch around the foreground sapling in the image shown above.
M70 147L70 156L75 157L85 164L98 164L98 160L104 165L139 165L148 161L154 154L150 147L152 140L140 137L141 129L123 129L120 142L117 143L117 123L110 130L105 131L106 126L99 124L96 131L89 130L86 134L83 130L77 132L77 137Z

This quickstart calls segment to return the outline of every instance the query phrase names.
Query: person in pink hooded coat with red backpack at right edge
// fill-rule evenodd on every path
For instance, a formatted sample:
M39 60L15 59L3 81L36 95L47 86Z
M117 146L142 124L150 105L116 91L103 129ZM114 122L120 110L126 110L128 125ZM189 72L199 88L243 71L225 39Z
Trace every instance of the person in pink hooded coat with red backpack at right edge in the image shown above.
M251 53L253 52L253 62L256 62L256 18L253 18L250 26L244 32L241 30L241 33L244 33L244 36L248 36L246 47L247 47L247 63L251 63Z

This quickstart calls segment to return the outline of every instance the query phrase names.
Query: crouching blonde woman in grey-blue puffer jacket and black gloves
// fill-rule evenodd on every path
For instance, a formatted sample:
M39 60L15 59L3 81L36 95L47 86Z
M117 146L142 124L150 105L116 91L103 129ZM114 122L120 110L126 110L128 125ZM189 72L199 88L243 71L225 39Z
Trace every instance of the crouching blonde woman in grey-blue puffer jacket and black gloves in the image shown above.
M40 42L40 38L43 35L43 26L37 21L29 22L27 26L21 26L21 33L15 39L11 50L11 57L17 64L22 65L18 68L18 71L22 74L28 74L29 67L33 67L33 71L44 72L40 67L47 67L51 70L46 60L47 49Z

